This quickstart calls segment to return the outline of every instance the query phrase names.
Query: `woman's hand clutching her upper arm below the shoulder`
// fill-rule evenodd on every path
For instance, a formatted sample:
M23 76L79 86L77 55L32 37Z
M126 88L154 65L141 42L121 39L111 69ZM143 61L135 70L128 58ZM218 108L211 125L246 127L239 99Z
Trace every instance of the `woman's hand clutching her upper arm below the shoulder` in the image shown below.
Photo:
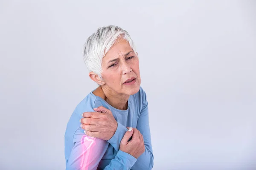
M116 132L117 122L112 112L103 106L93 109L96 112L84 112L81 128L87 136L109 140ZM101 112L101 113L99 113Z

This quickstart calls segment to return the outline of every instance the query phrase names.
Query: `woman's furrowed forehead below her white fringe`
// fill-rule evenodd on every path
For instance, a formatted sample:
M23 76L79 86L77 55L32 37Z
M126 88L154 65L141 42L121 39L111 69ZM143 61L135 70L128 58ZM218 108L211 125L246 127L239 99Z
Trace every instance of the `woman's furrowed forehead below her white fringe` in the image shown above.
M103 60L113 59L119 57L120 54L126 54L129 51L133 51L129 42L126 40L117 40L117 42L110 48L107 54L103 57Z

